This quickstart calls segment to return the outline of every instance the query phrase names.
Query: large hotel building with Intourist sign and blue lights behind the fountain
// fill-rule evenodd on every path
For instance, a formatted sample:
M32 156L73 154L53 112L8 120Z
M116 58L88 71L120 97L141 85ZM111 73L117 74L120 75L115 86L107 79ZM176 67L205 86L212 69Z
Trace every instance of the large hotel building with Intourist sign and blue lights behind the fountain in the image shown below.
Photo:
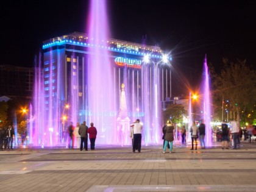
M165 65L162 62L163 51L159 47L115 39L93 40L86 34L74 32L43 42L44 104L42 106L49 116L47 121L53 122L48 125L49 127L65 129L61 121L54 119L61 119L66 103L71 105L71 108L65 111L69 117L68 121L74 123L90 121L90 110L93 106L89 104L90 85L87 82L87 74L90 74L88 63L93 63L93 49L108 50L107 57L112 71L110 82L113 82L113 88L108 91L113 95L113 109L111 112L102 113L117 119L121 84L126 85L130 119L140 118L146 121L144 118L146 111L157 112L158 106L160 107L166 98L171 98L171 67L170 64ZM144 62L146 55L150 57L147 63ZM171 57L167 59L171 62ZM104 67L102 65L102 76L104 76ZM97 76L93 78L97 79ZM102 98L98 102L108 102L104 101L104 95ZM159 105L155 105L156 103ZM40 106L38 105L37 108L41 108ZM152 116L147 115L147 118L153 119ZM155 125L156 123L153 126ZM150 126L152 123L149 122L148 127ZM145 142L151 140L150 136L147 137Z

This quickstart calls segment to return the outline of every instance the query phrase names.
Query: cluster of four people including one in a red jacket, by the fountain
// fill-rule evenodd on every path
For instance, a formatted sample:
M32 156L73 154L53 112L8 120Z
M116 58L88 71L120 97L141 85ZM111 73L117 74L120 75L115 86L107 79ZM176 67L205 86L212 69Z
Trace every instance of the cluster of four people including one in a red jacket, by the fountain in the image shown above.
M77 123L76 127L73 126L73 122L68 126L69 140L68 146L69 149L74 149L74 140L76 138L77 148L80 148L80 151L88 151L88 134L90 139L90 148L91 150L95 149L95 140L97 136L97 129L94 127L94 124L91 123L90 127L86 125L86 121L79 125Z

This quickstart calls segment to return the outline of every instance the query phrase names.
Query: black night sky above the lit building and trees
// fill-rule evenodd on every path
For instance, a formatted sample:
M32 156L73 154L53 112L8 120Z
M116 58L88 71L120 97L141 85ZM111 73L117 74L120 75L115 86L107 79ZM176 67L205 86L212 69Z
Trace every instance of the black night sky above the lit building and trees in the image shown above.
M255 65L256 1L107 0L111 37L158 45L172 55L173 93L196 89L205 54ZM42 41L86 32L88 1L1 1L0 65L34 66ZM179 86L177 86L179 85ZM180 86L186 85L186 86ZM180 88L180 87L183 87Z

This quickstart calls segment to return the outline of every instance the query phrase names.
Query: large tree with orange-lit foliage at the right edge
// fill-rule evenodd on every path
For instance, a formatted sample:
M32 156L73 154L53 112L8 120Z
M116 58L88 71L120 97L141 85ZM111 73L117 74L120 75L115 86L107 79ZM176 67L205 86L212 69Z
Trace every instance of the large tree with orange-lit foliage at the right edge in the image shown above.
M211 69L213 98L215 103L215 112L230 113L232 118L245 121L252 124L255 117L256 104L256 79L255 70L246 64L246 60L236 60L229 62L228 59L223 59L224 68L221 73L217 74L214 69ZM223 109L221 104L224 100ZM219 113L218 113L219 114Z

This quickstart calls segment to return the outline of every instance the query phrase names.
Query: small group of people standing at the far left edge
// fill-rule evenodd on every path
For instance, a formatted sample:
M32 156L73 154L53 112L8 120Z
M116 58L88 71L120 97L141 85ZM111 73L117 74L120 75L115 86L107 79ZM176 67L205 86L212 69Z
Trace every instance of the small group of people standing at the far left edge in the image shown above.
M14 130L12 126L7 129L0 127L0 150L13 149Z

